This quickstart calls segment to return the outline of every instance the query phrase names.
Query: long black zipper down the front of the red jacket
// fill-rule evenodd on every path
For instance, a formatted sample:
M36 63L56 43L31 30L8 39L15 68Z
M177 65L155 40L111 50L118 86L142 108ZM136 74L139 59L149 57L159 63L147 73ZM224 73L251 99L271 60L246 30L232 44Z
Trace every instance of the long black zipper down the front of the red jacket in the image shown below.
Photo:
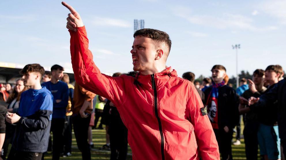
M154 89L155 115L156 115L156 118L158 120L159 131L160 131L160 135L161 135L161 155L162 155L162 160L165 160L165 155L164 155L164 137L163 137L161 120L160 120L159 114L158 114L158 97L157 97L157 89L156 89L156 85L155 85L154 74L151 74L151 82L152 82L152 88Z

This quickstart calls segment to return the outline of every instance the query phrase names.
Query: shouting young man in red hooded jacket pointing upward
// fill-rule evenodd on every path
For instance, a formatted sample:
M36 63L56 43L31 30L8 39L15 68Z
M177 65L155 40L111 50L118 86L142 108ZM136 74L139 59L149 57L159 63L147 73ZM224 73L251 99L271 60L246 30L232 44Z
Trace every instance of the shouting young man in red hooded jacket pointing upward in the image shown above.
M133 159L219 159L206 107L195 86L165 67L171 48L167 33L136 31L130 51L133 70L139 71L136 78L107 76L93 62L79 14L62 4L72 13L67 28L75 79L117 107L128 129Z

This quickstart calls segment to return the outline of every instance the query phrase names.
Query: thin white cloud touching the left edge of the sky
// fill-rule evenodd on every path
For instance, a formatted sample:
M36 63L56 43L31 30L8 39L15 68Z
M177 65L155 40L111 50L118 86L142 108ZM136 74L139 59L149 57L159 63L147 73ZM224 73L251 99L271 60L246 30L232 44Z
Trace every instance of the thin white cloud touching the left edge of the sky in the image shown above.
M16 16L0 14L0 19L5 20L5 21L27 23L27 22L35 21L36 20L36 16L35 15L31 15L31 14L29 14L29 15L16 15Z

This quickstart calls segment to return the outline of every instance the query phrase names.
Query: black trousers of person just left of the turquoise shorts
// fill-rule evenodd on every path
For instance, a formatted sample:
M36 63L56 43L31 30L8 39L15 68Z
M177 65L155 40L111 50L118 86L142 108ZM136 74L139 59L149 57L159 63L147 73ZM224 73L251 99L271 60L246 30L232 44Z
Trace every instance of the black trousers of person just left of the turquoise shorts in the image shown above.
M259 124L257 122L246 122L244 125L243 135L247 160L257 160L258 158L258 125Z

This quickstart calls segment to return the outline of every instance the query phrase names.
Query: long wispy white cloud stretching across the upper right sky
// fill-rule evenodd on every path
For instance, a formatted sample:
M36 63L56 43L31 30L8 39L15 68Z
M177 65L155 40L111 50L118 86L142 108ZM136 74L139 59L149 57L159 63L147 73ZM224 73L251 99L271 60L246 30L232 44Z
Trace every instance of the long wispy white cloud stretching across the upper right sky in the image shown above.
M253 20L249 17L240 14L222 14L220 17L212 15L195 15L190 14L191 10L187 7L174 7L174 14L186 19L192 24L210 26L219 29L241 29L251 31L267 31L277 29L274 26L256 27L253 25Z

